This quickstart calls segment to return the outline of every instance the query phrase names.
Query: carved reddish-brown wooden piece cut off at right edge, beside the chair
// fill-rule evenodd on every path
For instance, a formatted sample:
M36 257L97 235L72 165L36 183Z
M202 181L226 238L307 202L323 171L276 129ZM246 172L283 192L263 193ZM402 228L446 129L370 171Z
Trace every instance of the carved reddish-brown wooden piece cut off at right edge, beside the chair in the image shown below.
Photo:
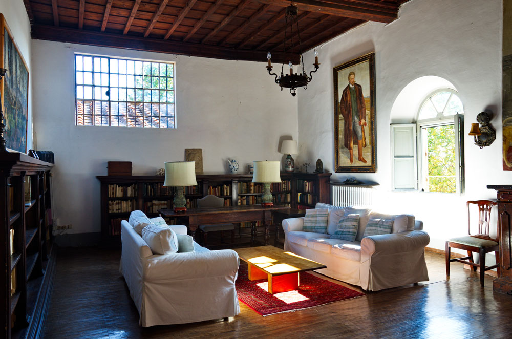
M498 235L500 237L500 275L493 282L495 292L512 294L512 185L487 185L498 191Z

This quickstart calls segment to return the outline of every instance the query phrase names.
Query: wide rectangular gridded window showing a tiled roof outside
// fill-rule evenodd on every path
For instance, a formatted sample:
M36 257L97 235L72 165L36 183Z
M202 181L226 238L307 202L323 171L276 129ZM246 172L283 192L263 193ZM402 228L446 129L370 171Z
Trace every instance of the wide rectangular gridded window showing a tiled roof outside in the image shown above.
M175 64L75 54L77 126L175 128Z

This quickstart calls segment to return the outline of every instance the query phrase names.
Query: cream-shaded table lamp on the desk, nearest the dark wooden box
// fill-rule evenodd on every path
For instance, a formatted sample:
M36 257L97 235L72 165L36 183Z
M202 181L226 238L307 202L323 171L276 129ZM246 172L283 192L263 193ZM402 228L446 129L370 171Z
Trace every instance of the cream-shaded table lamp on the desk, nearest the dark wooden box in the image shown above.
M174 161L165 162L165 181L164 186L176 187L174 194L175 213L186 212L187 200L183 195L183 186L195 186L196 181L196 162L195 161Z

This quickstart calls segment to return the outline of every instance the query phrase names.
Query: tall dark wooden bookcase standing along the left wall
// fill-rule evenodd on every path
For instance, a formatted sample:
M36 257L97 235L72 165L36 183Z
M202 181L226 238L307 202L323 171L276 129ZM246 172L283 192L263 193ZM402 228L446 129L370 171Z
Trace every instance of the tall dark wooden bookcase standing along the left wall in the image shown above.
M0 154L2 327L5 338L35 338L49 301L54 268L51 232L53 164Z

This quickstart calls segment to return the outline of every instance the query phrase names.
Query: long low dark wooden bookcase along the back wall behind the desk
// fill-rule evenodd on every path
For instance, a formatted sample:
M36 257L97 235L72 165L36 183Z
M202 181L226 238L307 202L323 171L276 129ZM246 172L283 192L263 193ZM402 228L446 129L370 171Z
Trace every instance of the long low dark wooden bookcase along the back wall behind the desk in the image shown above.
M314 208L316 202L330 203L331 173L281 173L281 183L271 186L274 205ZM174 190L163 187L163 176L98 176L101 183L101 233L105 244L119 243L121 220L140 209L148 217L157 217L160 208L172 208ZM261 203L262 185L252 183L252 174L197 175L197 186L185 187L187 207L197 207L196 200L208 194L224 198L226 206ZM304 189L308 182L308 190ZM298 185L297 185L298 183ZM297 187L299 189L297 189ZM314 203L300 203L307 195ZM304 198L301 198L304 199ZM250 223L241 228L250 229Z

